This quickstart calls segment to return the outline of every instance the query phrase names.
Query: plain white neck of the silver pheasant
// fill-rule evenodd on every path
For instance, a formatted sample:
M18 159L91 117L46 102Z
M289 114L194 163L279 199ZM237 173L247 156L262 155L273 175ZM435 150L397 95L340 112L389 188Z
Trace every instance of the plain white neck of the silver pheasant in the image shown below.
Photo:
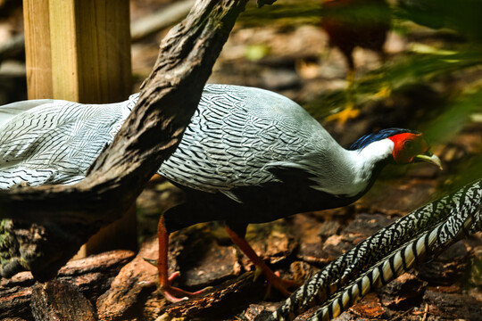
M336 195L355 196L367 189L377 165L392 157L394 142L385 138L362 150L340 150L336 159L326 164L324 170L328 171L328 177L315 178L318 184L312 187Z

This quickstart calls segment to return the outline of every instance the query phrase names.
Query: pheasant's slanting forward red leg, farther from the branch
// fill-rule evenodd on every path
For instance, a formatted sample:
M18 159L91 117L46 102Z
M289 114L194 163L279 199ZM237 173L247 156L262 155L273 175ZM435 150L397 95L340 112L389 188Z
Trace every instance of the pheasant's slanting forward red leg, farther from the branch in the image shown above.
M281 279L270 268L268 268L268 266L258 256L258 254L256 254L256 252L253 250L251 245L247 243L244 237L237 235L237 233L230 229L229 226L226 226L226 231L228 232L228 235L233 241L233 243L235 243L239 247L239 249L243 251L249 259L251 259L251 261L257 268L260 268L262 270L262 274L264 274L264 276L268 280L268 284L274 286L279 292L283 293L286 296L289 296L291 294L289 291L287 291L287 287L300 285L293 281Z

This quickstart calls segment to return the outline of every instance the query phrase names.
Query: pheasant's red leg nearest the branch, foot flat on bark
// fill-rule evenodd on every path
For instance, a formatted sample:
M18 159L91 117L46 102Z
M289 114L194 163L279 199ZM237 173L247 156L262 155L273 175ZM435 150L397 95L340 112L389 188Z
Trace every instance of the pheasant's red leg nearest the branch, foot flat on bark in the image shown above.
M157 259L157 269L159 271L159 284L162 295L171 302L179 302L179 300L186 300L190 297L201 294L203 290L187 292L170 285L172 281L179 276L179 272L174 272L171 276L168 276L169 233L164 225L163 216L159 219L157 236L159 240L159 259Z

